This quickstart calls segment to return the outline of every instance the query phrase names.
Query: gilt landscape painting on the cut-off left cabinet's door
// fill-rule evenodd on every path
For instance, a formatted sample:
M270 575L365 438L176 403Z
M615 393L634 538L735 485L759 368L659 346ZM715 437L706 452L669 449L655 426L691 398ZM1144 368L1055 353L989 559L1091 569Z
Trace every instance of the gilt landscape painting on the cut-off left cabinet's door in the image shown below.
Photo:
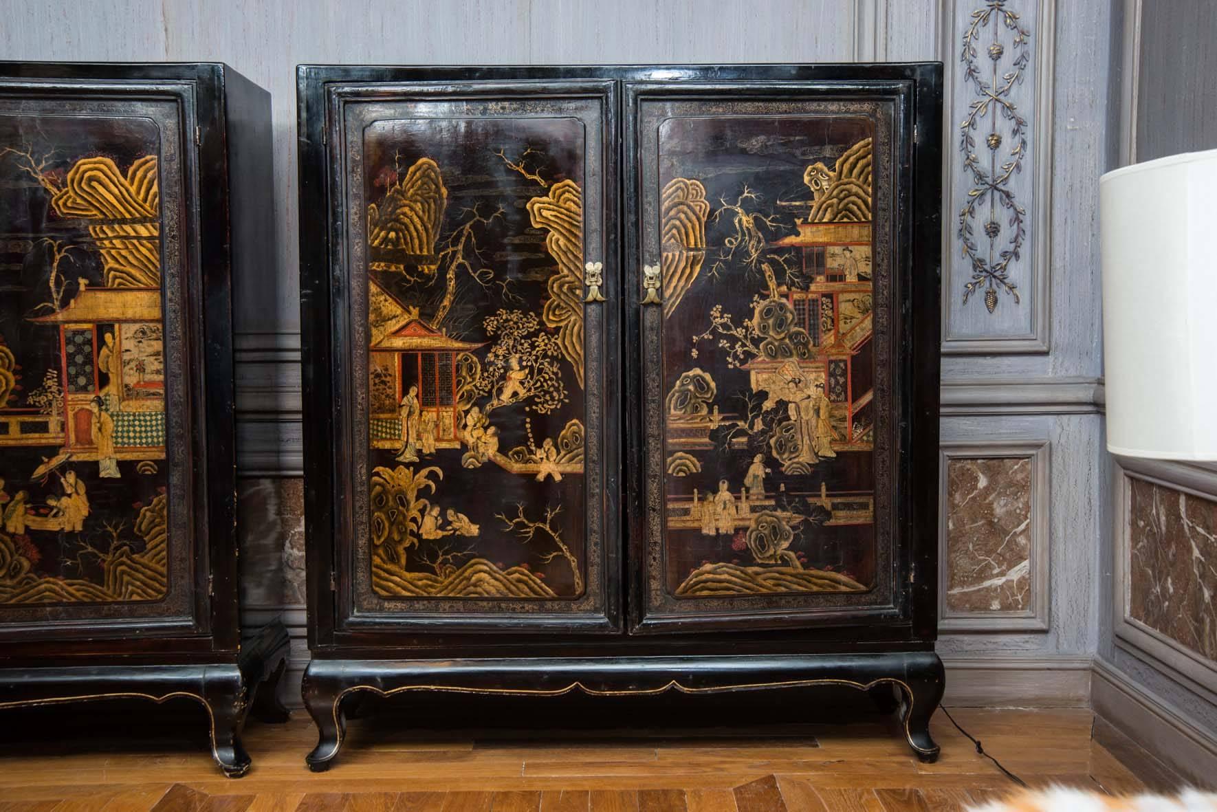
M0 116L0 605L166 595L159 130Z

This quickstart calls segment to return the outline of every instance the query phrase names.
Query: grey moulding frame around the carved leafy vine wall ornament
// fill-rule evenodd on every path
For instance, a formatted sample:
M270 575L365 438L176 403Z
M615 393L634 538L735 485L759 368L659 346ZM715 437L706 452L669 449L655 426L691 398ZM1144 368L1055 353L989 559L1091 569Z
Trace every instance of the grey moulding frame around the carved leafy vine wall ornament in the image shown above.
M1019 307L1031 308L1031 331L1019 335L993 335L985 337L957 337L952 332L952 302L961 296L963 284L954 269L959 264L959 215L954 211L953 194L955 178L963 172L959 156L959 122L954 121L953 107L957 82L963 65L958 58L959 38L955 35L955 18L961 0L950 0L942 13L942 30L938 35L940 57L955 69L944 74L943 97L947 100L947 127L943 128L943 190L946 212L942 218L943 296L942 296L942 354L944 355L996 355L996 354L1047 354L1051 345L1051 186L1053 186L1053 93L1056 51L1056 0L1037 0L1036 28L1031 32L1034 50L1036 86L1030 113L1032 147L1028 159L1034 173L1032 195L1034 212L1027 225L1032 241L1031 252L1023 254L1023 264L1030 269L1030 284L1022 286L1023 301ZM985 5L988 0L970 0ZM1013 0L1005 0L1013 2ZM959 284L957 284L959 282ZM1013 301L1010 302L1013 304ZM971 306L971 303L969 303ZM983 303L977 303L985 307Z

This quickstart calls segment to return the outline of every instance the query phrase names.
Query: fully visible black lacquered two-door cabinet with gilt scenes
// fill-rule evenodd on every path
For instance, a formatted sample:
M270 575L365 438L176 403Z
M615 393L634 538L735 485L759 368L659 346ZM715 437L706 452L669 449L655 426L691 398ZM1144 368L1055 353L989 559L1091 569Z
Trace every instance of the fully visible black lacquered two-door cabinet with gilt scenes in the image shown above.
M936 757L941 66L298 91L309 765L361 691L820 684Z

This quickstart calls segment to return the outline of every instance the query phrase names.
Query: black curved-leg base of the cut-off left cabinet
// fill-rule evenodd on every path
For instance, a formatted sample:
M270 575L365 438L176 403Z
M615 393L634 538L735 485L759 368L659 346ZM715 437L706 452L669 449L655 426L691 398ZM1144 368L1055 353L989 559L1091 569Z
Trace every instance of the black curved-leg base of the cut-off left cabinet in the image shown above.
M150 699L159 704L184 696L207 711L215 763L229 778L240 778L249 769L249 756L241 745L246 715L252 712L265 722L287 719L287 709L276 696L286 666L287 629L282 623L271 623L228 661L2 667L0 710L106 699Z

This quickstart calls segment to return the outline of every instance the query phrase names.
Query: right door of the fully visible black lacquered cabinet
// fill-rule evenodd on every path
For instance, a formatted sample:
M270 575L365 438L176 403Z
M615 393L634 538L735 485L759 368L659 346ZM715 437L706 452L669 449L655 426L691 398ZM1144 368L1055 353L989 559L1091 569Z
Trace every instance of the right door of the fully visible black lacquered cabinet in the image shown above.
M634 633L908 621L910 93L627 85Z

